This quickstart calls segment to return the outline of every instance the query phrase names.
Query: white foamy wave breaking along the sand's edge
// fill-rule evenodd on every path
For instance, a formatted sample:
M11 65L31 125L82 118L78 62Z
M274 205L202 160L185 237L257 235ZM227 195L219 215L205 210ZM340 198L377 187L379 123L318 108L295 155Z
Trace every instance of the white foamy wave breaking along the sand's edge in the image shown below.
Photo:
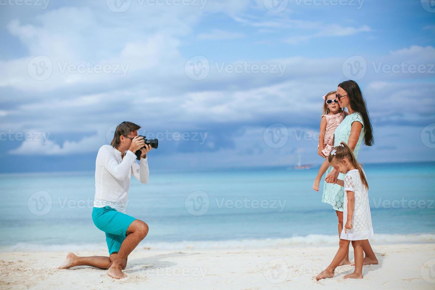
M435 243L435 234L376 234L370 243L398 244L398 243ZM246 240L209 240L209 241L179 241L179 242L141 242L137 249L151 250L211 250L211 249L254 249L277 247L304 247L304 246L335 246L338 244L336 235L295 236L276 239L246 239ZM84 244L34 244L17 243L13 246L0 247L0 252L11 251L83 251L107 250L105 243Z

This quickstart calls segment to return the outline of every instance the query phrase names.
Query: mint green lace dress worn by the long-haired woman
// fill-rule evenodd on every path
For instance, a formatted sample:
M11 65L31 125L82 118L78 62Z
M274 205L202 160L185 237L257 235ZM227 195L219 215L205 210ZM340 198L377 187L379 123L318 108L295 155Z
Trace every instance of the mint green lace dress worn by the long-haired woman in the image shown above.
M364 122L359 113L347 115L334 132L334 147L340 145L340 142L348 143L351 134L351 127L353 122L360 122L362 124L361 134L359 135L358 142L356 143L354 155L358 158L359 147L361 147L362 140L364 139L365 129ZM326 170L328 175L334 168L331 166ZM344 180L344 175L339 173L338 179ZM322 202L329 203L335 210L343 211L343 200L345 198L345 188L338 184L326 183L323 185Z

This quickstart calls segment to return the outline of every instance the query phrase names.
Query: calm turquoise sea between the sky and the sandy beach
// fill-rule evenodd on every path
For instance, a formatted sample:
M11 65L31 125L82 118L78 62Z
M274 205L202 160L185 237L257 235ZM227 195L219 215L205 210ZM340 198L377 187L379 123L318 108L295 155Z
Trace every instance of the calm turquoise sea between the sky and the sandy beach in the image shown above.
M435 163L364 169L374 242L435 242ZM144 247L335 244L335 211L311 189L317 171L151 168L149 183L133 178L127 214L149 225ZM1 250L105 246L91 220L94 190L94 172L1 174Z

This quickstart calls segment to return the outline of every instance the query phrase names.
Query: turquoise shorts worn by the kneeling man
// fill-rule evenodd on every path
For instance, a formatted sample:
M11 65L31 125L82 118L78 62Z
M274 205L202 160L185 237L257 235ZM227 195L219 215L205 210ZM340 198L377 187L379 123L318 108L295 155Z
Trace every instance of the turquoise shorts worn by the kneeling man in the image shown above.
M110 255L113 252L119 252L128 227L136 219L111 207L94 207L92 220L98 229L106 233L106 243Z

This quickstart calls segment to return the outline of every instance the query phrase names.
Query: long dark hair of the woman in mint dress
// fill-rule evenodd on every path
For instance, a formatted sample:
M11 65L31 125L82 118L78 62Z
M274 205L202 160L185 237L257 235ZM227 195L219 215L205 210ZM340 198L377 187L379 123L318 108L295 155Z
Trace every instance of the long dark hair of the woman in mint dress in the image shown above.
M349 102L352 110L359 113L364 122L364 143L367 146L372 146L375 141L373 140L373 127L371 127L370 117L368 116L367 106L362 97L361 89L354 80L346 80L338 85L348 93Z

